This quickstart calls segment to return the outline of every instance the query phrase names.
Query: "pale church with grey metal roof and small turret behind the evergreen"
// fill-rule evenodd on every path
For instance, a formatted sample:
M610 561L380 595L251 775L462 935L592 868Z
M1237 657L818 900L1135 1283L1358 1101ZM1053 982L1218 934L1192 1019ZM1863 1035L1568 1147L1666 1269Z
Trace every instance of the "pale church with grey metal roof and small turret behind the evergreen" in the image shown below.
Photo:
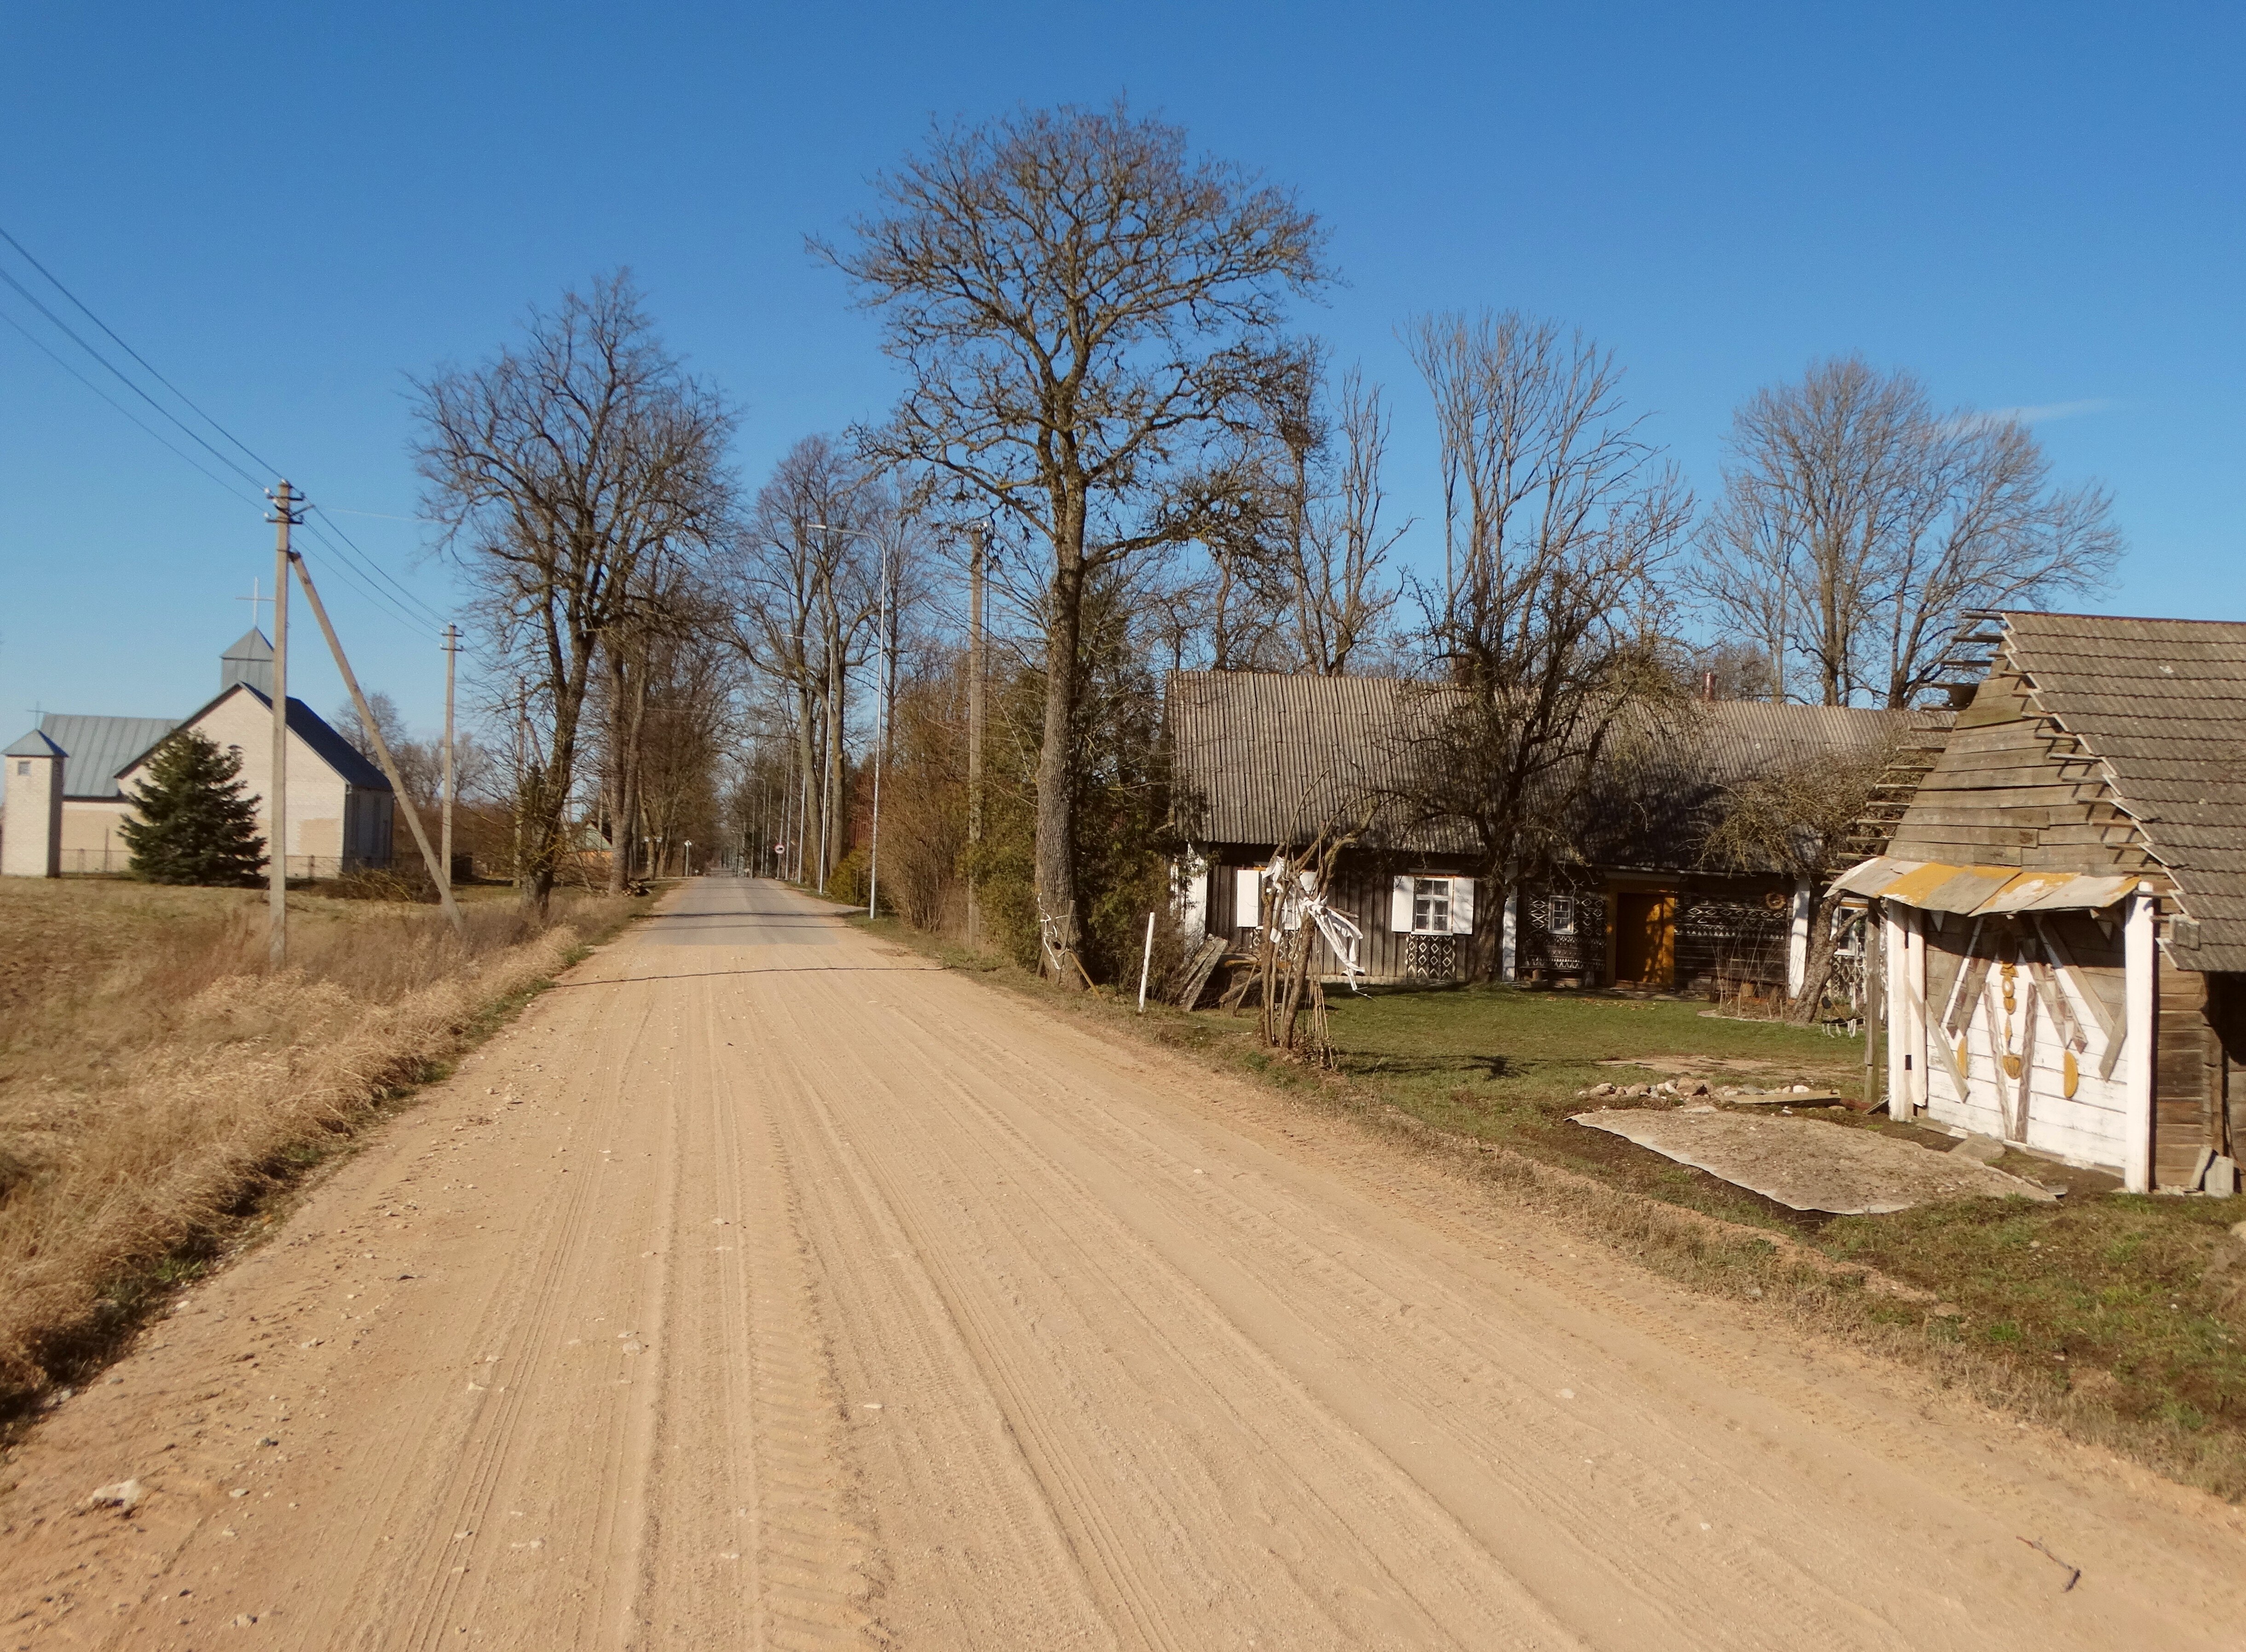
M220 655L218 696L184 718L47 712L7 750L7 826L0 871L16 878L126 871L119 826L148 759L175 729L195 727L243 754L245 792L272 786L274 651L249 631ZM303 700L287 703L287 871L332 878L391 862L391 783ZM265 810L258 830L272 837Z

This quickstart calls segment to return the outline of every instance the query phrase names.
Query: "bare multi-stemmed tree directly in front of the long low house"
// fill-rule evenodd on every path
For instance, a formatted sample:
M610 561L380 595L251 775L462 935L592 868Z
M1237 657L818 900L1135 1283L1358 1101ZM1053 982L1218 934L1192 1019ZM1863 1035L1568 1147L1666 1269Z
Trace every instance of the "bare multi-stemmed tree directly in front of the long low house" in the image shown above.
M1662 736L1678 696L1662 575L1691 518L1583 334L1521 314L1426 316L1444 584L1419 593L1435 664L1399 770L1415 824L1464 828L1503 889L1577 857L1601 763ZM1473 972L1494 963L1476 927Z

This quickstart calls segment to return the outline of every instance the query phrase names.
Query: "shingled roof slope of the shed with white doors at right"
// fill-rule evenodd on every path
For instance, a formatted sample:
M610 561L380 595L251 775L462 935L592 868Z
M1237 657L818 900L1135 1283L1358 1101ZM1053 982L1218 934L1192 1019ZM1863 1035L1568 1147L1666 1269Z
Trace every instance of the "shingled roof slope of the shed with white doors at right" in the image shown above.
M2176 880L2176 963L2246 970L2246 624L2006 613L2030 694L2107 770Z

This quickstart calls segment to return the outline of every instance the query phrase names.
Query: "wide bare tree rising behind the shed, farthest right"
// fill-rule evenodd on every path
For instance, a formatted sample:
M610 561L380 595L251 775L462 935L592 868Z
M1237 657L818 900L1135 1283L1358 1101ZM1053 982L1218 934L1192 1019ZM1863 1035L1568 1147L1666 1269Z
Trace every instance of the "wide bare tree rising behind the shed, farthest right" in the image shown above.
M1967 613L2091 588L2122 550L2107 494L2055 489L2026 424L1936 413L1862 357L1759 391L1729 449L1691 584L1781 662L1774 696L1905 707Z

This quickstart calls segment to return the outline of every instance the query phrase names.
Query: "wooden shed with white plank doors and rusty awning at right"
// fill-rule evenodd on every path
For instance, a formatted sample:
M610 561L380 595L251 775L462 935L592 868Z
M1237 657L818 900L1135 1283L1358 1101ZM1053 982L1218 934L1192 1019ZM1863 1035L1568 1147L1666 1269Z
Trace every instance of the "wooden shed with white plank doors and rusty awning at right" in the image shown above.
M2152 1187L2246 1138L2246 624L2003 613L1887 853L1889 1111Z

